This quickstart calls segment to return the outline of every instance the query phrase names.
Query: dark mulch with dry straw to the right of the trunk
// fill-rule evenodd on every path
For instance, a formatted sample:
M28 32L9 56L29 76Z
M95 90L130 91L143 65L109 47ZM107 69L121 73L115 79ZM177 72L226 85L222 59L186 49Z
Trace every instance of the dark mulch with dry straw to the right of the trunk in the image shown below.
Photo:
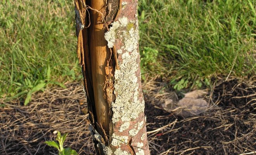
M166 98L173 97L161 83L152 82L144 88L150 90L144 94L152 155L256 154L255 81L220 81L206 97L211 108L187 118L159 108Z

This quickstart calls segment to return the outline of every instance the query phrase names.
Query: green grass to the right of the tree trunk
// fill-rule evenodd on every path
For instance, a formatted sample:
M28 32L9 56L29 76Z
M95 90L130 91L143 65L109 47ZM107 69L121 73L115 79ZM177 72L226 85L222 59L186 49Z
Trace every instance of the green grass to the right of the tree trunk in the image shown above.
M255 74L256 2L211 1L139 1L144 71L161 74L180 88L207 85L211 77L230 72Z

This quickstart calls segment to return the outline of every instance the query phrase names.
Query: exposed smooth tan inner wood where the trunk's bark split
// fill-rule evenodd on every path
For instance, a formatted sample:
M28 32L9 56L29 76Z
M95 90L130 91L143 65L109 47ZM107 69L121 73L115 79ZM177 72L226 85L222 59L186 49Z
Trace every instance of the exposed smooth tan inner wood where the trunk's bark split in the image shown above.
M90 7L104 12L105 0L90 0ZM97 123L101 124L105 132L109 133L109 105L104 98L104 84L106 81L107 41L104 38L106 29L102 23L102 14L90 9L90 22L88 28L88 43L92 71L92 86L96 110Z

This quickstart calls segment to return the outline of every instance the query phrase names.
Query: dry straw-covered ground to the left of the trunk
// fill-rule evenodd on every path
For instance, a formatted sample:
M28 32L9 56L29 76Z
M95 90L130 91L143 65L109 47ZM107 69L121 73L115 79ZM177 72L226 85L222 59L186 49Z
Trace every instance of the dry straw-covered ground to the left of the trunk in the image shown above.
M84 96L81 84L73 83L67 89L56 87L34 95L26 107L20 102L5 103L0 108L0 154L57 155L57 149L44 144L55 140L55 130L69 133L64 145L81 155L94 154L86 115L81 112Z

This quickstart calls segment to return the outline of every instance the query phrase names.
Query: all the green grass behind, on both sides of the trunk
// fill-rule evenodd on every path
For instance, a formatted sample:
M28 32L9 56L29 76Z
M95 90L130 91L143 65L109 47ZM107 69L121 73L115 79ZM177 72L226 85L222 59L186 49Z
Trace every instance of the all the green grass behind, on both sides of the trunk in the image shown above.
M255 3L140 0L142 73L161 75L176 90L254 75ZM81 80L73 1L2 0L0 8L1 97L29 102L52 84Z

